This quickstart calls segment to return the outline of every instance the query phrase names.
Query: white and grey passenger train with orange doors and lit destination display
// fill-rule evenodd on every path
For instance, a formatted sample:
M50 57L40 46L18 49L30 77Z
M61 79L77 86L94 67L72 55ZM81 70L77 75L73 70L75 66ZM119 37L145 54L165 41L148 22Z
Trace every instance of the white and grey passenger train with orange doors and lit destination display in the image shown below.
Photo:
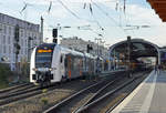
M32 50L30 82L38 85L50 85L98 73L100 66L95 55L63 48L55 43L43 43Z

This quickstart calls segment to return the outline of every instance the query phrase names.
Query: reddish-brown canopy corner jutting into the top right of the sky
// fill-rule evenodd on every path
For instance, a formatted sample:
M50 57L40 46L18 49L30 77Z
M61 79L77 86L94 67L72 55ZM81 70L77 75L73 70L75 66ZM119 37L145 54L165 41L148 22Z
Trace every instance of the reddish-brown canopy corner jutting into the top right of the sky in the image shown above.
M166 0L147 0L159 18L166 22Z

